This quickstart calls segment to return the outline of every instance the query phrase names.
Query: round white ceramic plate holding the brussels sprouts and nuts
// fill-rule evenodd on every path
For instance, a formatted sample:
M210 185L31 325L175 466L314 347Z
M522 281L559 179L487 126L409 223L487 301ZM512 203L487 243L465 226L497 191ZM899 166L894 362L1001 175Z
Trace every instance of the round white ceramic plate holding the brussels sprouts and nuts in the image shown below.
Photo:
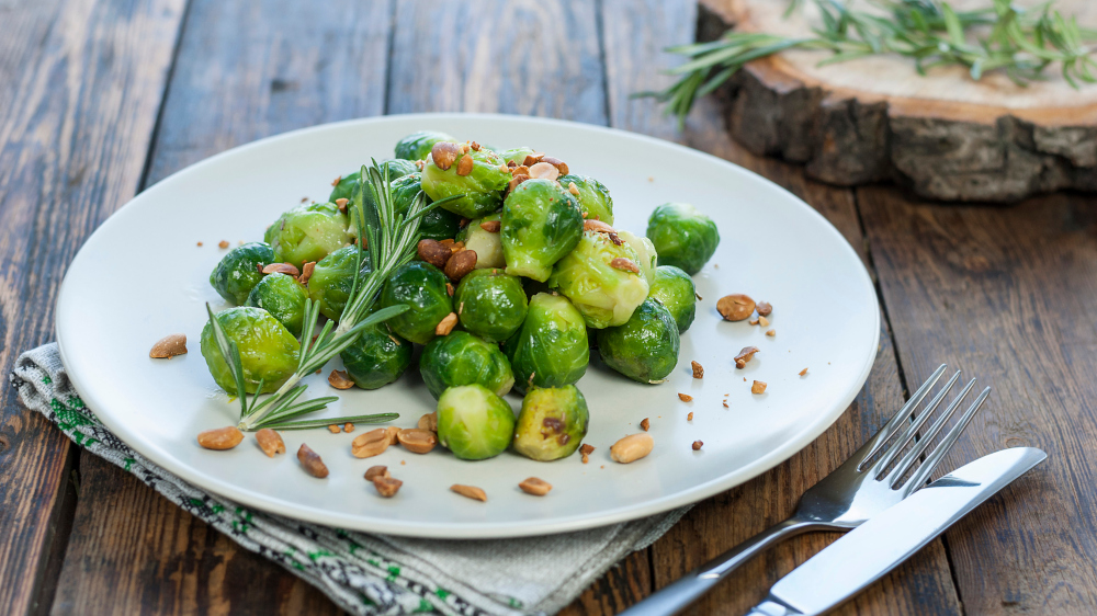
M682 338L670 381L630 381L593 361L578 387L590 408L579 456L536 463L512 453L460 461L444 449L416 455L391 447L355 459L355 434L284 433L287 454L267 458L252 437L228 452L201 448L195 435L236 423L239 407L211 378L199 352L203 304L223 309L210 271L219 240L262 238L302 197L325 198L331 180L370 157L392 156L406 134L437 129L497 147L530 145L574 172L609 186L617 227L643 233L652 209L689 202L719 225L715 256L694 276L697 320ZM204 246L199 248L196 242ZM747 293L773 305L774 338L746 321L730 323L716 299ZM57 336L77 390L134 449L196 486L262 510L342 528L421 537L508 537L576 531L651 515L727 490L776 466L827 429L868 377L877 352L879 309L853 250L811 207L758 175L711 156L649 137L552 119L497 115L403 115L329 124L242 146L176 173L145 191L88 240L61 285ZM184 332L190 353L150 360L161 336ZM746 369L732 357L756 345ZM704 366L694 380L690 361ZM306 379L306 397L330 395L327 372ZM808 368L806 377L798 376ZM745 379L745 380L744 380ZM769 384L750 393L754 379ZM681 402L678 393L693 397ZM377 391L340 393L329 417L398 411L414 426L434 410L415 370ZM517 395L508 396L516 409ZM724 408L726 399L730 408ZM687 413L693 412L693 420ZM609 446L651 420L655 450L631 465ZM359 427L359 431L366 426ZM358 431L357 431L358 432ZM691 448L701 440L700 452ZM302 443L331 475L306 475ZM394 499L362 479L387 465L404 481ZM527 477L553 484L544 498L518 489ZM482 503L449 491L482 487Z

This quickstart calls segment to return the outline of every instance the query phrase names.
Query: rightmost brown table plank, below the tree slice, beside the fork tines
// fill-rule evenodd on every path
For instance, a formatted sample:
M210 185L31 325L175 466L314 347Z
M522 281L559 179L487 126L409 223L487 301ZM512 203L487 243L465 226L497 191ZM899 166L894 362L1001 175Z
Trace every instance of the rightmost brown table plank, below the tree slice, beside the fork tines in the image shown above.
M1097 612L1097 199L988 208L858 195L909 380L948 362L994 387L946 466L1020 445L1049 454L947 534L964 606Z

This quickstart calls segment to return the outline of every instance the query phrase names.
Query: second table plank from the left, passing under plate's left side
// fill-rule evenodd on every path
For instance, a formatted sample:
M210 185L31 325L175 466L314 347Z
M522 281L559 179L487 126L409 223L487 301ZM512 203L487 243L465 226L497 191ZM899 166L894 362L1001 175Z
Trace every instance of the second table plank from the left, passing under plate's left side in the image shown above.
M387 2L195 0L148 183L267 135L381 113L391 22ZM81 470L56 613L339 612L121 469L86 456Z

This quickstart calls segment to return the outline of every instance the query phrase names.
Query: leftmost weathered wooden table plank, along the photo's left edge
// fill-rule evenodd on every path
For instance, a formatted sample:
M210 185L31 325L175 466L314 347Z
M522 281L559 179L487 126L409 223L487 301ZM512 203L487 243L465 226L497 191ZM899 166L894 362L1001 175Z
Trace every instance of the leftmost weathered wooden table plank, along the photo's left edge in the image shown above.
M183 0L0 8L0 365L53 338L84 238L136 192ZM76 449L3 389L0 613L49 609L75 503Z

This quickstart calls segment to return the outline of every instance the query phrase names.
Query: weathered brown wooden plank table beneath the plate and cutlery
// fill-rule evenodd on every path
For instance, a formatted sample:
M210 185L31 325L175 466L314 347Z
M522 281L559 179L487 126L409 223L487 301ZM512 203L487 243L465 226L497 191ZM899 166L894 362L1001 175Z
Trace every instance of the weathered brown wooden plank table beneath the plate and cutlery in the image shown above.
M994 386L947 465L1018 445L1050 457L838 613L1097 612L1097 198L958 207L912 202L893 186L830 187L731 142L712 101L678 133L651 100L630 94L667 83L658 69L671 60L658 49L692 41L694 23L692 0L0 3L0 363L53 339L58 283L104 218L233 146L428 111L655 135L761 173L816 207L878 281L885 331L864 390L830 430L700 503L567 612L621 611L788 515L941 362ZM834 538L789 541L697 612L742 614ZM0 613L306 611L337 609L81 455L3 389Z

